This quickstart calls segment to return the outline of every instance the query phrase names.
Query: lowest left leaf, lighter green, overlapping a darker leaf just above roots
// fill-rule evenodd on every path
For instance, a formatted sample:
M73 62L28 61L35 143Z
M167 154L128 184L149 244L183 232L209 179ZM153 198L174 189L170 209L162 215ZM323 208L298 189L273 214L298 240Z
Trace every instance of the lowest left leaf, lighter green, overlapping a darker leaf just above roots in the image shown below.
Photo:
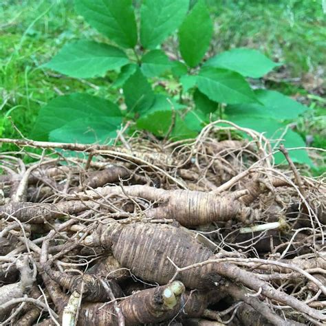
M117 135L118 126L110 118L80 118L50 131L51 142L78 142L81 144L109 144Z

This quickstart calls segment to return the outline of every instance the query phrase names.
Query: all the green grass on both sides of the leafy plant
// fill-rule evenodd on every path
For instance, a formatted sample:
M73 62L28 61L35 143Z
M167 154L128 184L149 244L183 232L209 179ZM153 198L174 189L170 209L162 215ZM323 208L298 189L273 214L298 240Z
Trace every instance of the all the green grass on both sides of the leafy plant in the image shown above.
M287 79L326 71L326 23L320 0L207 0L215 21L211 53L246 46L285 63ZM41 64L72 39L100 39L74 12L72 0L2 0L0 8L0 136L28 136L39 109L52 98L74 91L111 97L110 76L76 80L42 69ZM324 72L324 73L323 73ZM296 96L314 110L298 122L303 137L326 148L326 103L318 94L279 80L271 89ZM319 96L319 97L318 97ZM12 122L8 120L11 117ZM324 134L323 134L324 132ZM2 150L8 146L3 146Z

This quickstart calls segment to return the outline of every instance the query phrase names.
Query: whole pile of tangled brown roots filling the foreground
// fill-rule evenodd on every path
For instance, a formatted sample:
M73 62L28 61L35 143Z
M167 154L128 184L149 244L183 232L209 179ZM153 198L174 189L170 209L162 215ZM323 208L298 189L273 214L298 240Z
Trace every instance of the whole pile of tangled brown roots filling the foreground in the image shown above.
M1 325L326 323L326 183L282 145L219 122L178 142L0 142L20 148L0 155Z

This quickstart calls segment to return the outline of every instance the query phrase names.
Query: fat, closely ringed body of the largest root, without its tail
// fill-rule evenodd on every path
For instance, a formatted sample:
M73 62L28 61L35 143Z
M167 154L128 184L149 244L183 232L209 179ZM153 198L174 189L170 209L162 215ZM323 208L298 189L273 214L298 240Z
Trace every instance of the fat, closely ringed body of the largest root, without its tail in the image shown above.
M133 243L130 246L129 243ZM178 266L199 263L212 256L212 252L183 228L166 224L120 224L111 221L100 225L85 239L87 246L102 246L112 250L123 267L149 282L169 283L175 272L171 261ZM169 257L169 258L168 258ZM171 261L169 260L171 259ZM146 267L145 267L146 266ZM178 279L190 288L202 287L202 268L182 273Z

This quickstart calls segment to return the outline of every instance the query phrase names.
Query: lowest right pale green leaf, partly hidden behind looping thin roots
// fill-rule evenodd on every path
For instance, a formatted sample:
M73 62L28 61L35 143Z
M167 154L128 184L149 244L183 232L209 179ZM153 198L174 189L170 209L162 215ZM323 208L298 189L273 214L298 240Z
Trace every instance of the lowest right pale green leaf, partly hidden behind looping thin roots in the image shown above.
M265 137L272 140L278 140L280 138L284 139L282 142L285 147L304 147L305 142L298 133L295 133L291 129L287 129L284 134L286 124L279 122L278 120L270 117L252 117L247 115L235 115L228 116L228 120L239 124L240 127L246 127L254 129L260 133L265 133ZM246 136L246 135L245 135ZM307 155L305 149L300 149L296 151L289 151L290 157L294 162L309 164L312 166L312 161ZM276 164L280 164L284 161L281 153L276 153L274 155Z

